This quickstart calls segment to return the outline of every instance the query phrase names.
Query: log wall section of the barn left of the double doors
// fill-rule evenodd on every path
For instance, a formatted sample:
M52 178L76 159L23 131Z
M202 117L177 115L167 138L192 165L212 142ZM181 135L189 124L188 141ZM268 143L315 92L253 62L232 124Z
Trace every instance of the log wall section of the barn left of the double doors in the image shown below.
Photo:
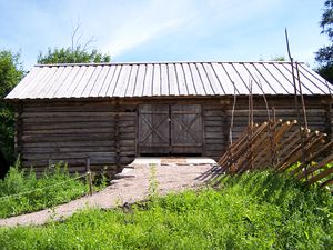
M65 161L70 172L114 174L135 156L135 107L110 102L24 103L19 114L18 152L37 172Z

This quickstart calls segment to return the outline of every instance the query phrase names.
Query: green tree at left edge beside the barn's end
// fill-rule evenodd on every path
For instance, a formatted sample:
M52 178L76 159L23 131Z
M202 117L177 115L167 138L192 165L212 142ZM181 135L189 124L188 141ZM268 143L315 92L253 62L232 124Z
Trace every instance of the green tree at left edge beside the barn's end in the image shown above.
M14 161L14 112L11 106L3 102L3 98L22 79L23 74L19 53L0 51L0 151L9 162Z

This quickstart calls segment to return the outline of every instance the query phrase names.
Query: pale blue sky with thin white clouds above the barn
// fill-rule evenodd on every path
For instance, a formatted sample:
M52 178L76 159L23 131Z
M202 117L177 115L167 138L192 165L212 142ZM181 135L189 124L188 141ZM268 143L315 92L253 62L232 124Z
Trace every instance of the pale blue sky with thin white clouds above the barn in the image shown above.
M21 51L29 70L39 51L82 43L112 61L258 61L286 56L315 67L327 43L324 0L0 0L0 49Z

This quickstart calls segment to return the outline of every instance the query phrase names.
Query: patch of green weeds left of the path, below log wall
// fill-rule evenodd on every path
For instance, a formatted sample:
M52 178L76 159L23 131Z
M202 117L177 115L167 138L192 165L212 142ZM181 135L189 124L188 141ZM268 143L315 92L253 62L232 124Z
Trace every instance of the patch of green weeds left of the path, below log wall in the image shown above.
M37 179L32 170L24 172L17 162L0 180L0 218L52 208L88 193L88 189L84 178L74 180L65 166L49 168Z

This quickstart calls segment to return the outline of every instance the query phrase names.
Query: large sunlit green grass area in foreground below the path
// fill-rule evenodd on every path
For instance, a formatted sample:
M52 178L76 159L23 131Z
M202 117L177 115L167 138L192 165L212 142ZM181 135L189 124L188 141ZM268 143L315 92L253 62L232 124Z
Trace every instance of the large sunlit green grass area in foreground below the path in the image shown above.
M331 193L272 172L224 177L43 227L0 228L1 249L333 249Z

